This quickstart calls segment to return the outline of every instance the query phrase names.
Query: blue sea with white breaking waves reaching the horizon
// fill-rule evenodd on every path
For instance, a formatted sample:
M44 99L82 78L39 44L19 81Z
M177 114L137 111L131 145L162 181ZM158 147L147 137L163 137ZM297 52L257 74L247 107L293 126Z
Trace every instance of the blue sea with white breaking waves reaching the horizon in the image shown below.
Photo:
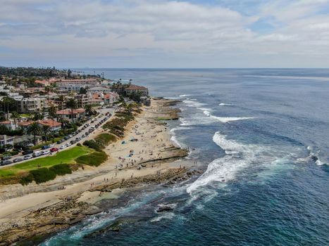
M204 174L145 188L42 245L329 245L329 70L95 72L180 99L172 140Z

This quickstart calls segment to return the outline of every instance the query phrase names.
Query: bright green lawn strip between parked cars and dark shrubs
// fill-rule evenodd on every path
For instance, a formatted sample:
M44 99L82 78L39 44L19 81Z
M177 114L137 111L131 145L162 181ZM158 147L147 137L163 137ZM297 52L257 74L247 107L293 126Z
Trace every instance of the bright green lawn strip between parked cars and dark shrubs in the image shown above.
M70 148L69 150L62 150L56 155L30 160L28 162L15 164L15 166L12 167L5 167L3 169L0 169L0 177L5 178L8 176L13 176L15 174L18 174L19 172L22 171L29 171L32 169L36 169L38 167L38 164L40 164L41 167L51 167L55 164L75 163L75 159L77 157L80 157L81 155L86 155L88 153L92 153L93 151L94 150L87 148L85 146L81 146L81 147L75 146L73 148Z

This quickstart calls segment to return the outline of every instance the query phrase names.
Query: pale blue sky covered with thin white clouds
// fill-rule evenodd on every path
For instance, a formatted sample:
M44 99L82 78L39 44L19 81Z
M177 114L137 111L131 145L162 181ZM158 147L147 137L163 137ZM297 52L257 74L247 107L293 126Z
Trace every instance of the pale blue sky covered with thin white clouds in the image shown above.
M328 67L329 0L0 0L0 65Z

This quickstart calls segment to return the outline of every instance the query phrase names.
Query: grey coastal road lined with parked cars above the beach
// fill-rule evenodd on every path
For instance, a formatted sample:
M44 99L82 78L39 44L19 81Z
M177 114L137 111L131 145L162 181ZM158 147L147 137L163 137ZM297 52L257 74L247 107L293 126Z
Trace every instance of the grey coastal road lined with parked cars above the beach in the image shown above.
M105 120L103 123L101 123L101 124L99 125L98 129L95 128L94 131L92 131L88 136L85 136L84 138L82 138L82 135L84 135L84 134L86 134L86 133L89 133L89 129L90 129L91 127L95 127L96 124L98 124L99 122L101 122L102 119L105 119L105 118L107 117L107 116L105 115L107 112L109 112L110 114L114 115L114 112L115 112L115 111L116 111L115 108L101 108L101 109L97 110L97 112L99 112L99 115L98 115L97 117L94 117L94 118L92 118L92 119L89 119L87 122L85 122L85 124L89 124L89 127L87 127L86 129L82 129L82 128L85 126L85 124L83 124L81 127L79 127L79 128L77 129L77 130L81 130L81 132L80 132L79 134L74 135L74 136L72 136L71 138L68 138L68 140L63 141L62 143L59 143L59 144L55 143L55 144L54 144L54 148L58 148L58 151L61 151L61 150L68 150L69 148L73 148L75 145L77 145L77 143L81 143L81 144L82 144L84 141L92 139L92 138L94 137L95 132L96 132L97 130L101 129L101 127L102 127L106 122L108 122L108 120L110 120L112 116L111 116L111 117L108 116L109 118L108 118L107 120ZM101 116L102 114L103 114L103 116ZM92 123L92 120L94 120L93 123ZM73 145L70 145L70 146L68 146L68 147L66 147L66 148L59 149L61 145L66 145L67 143L70 143L70 141L73 141L73 140L75 140L75 138L79 138L79 137L81 138L81 140L80 140L80 141L77 141L77 143L74 143ZM41 149L38 149L38 150L41 151ZM38 150L34 150L34 152L35 152L35 151L38 151ZM46 150L50 150L50 148L47 148ZM32 155L32 154L30 154L30 155ZM38 156L38 157L33 157L33 158L30 159L30 160L35 160L35 159L38 159L38 158L41 158L41 157L46 157L46 156L49 156L49 155L40 155L40 156ZM15 156L13 156L10 160L13 161L13 159L15 159L15 158L17 158L17 157L23 157L23 155L15 155ZM21 161L21 162L14 162L14 163L12 163L12 164L7 164L7 165L4 165L4 166L0 166L0 169L1 169L1 168L4 168L4 167L11 167L11 166L14 166L15 164L23 163L23 162L27 162L27 161L29 161L29 160L23 160L23 161Z

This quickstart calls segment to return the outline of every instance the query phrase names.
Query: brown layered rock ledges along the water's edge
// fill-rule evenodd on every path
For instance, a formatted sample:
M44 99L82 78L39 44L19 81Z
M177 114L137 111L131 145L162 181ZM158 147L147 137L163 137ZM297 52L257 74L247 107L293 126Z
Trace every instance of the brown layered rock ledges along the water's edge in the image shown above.
M151 112L151 115L153 115L152 117L145 116L150 124L162 126L163 129L166 129L166 122L162 122L163 120L178 119L180 111L171 108L171 106L179 101L170 101L163 98L154 98L152 101L152 103L157 104L156 110ZM162 131L163 130L161 130L161 132ZM58 200L58 202L51 205L41 205L38 209L31 209L28 214L25 214L21 218L13 220L10 223L1 224L0 245L11 245L17 242L19 242L20 245L35 245L42 242L44 238L58 231L65 230L73 224L87 219L88 216L102 212L106 208L102 206L98 207L97 202L102 200L102 197L106 200L106 194L113 193L113 191L124 190L129 193L131 189L144 186L159 184L163 186L173 186L176 183L190 179L192 176L201 174L201 170L190 169L190 167L160 168L161 164L163 164L163 166L166 163L170 164L187 155L187 150L170 145L159 150L159 156L149 157L148 159L138 162L138 164L141 165L140 167L149 169L150 171L154 170L156 174L154 174L153 171L153 174L134 177L129 176L129 178L100 183L82 192L63 197ZM128 167L127 164L127 167L120 170L129 171L130 169L135 169L135 167ZM98 174L100 174L100 172L102 171L99 171ZM104 173L106 173L105 169ZM63 183L61 183L61 185L63 185ZM50 190L54 190L54 187ZM94 201L82 199L86 193L92 194L92 197L99 197L99 199ZM113 199L111 202L113 202ZM116 228L116 226L113 228Z

